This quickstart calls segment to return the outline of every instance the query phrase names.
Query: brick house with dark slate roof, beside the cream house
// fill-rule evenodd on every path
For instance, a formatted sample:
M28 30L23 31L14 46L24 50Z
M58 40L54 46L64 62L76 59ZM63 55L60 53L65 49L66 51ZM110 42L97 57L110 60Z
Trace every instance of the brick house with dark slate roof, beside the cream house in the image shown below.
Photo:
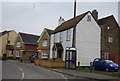
M37 35L18 33L14 45L14 58L18 58L21 61L28 61L30 56L37 54L38 39L39 36Z

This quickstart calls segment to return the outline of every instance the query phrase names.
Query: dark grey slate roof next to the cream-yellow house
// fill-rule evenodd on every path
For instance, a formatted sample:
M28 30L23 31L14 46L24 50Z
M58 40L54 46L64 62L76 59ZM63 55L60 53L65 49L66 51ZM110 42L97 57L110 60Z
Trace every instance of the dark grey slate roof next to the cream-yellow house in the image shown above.
M39 36L32 35L32 34L26 34L26 33L19 33L24 44L33 44L37 45L37 40L39 39Z

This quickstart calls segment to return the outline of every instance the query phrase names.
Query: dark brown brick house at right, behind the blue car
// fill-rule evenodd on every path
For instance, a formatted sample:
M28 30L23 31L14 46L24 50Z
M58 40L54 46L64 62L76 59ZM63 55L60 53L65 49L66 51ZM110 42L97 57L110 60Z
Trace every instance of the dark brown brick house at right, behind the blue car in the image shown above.
M120 27L113 15L98 20L101 28L101 57L120 65Z

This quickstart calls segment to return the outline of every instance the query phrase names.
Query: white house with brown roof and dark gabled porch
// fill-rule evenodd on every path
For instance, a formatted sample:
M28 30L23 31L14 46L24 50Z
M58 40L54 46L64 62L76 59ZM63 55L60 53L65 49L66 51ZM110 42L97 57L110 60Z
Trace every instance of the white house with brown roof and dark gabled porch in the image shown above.
M90 11L75 18L77 49L76 65L90 66L100 57L101 29ZM74 18L62 22L51 34L50 58L65 61L66 47L72 47ZM54 64L54 62L53 62Z

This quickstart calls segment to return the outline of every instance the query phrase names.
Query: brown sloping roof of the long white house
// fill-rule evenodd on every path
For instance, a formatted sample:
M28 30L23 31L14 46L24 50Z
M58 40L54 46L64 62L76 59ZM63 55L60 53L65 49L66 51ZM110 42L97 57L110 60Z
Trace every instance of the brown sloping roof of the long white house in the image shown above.
M72 28L74 27L74 20L75 20L75 24L78 24L84 17L85 15L87 15L90 11L86 12L86 13L83 13L79 16L76 16L76 18L72 18L68 21L65 21L64 23L62 23L61 25L59 25L53 33L57 33L57 32L60 32L60 31L63 31L63 30L66 30L66 29L69 29L69 28Z

